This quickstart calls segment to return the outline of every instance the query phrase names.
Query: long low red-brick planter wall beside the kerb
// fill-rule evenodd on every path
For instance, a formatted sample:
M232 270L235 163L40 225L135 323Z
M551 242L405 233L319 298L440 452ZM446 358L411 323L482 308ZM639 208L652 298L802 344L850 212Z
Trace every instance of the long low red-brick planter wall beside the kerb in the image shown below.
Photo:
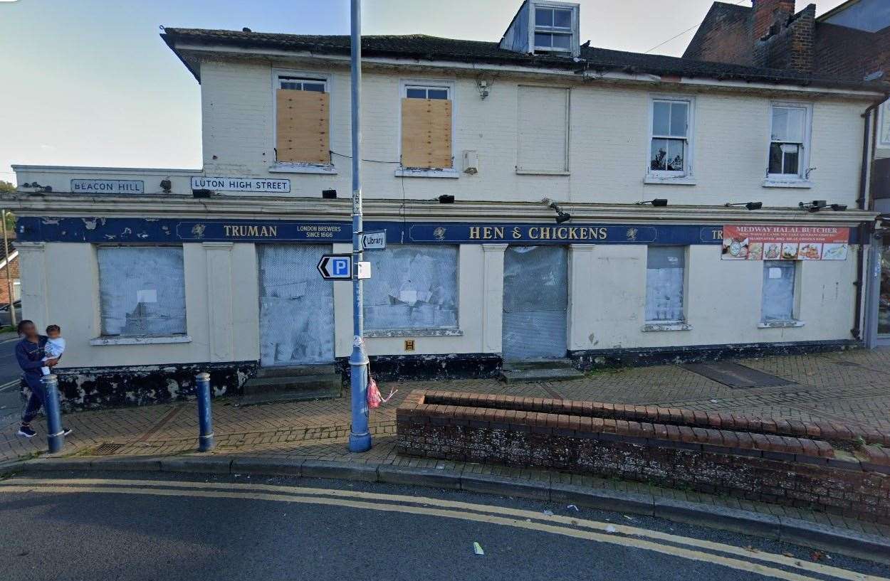
M614 476L890 523L890 450L859 440L884 444L890 434L425 390L406 398L396 423L401 454Z

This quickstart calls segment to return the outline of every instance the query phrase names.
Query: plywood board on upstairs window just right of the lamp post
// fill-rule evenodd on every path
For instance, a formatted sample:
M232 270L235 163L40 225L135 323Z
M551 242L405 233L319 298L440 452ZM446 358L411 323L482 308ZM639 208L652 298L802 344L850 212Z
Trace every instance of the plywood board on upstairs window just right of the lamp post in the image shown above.
M449 168L451 101L401 99L401 164L411 168Z

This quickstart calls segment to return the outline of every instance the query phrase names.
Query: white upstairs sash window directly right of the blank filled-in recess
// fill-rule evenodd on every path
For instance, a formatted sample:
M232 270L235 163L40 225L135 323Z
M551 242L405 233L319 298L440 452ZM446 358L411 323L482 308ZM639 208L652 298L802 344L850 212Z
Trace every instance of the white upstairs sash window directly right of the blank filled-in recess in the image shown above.
M690 172L692 101L652 99L649 173L684 176Z

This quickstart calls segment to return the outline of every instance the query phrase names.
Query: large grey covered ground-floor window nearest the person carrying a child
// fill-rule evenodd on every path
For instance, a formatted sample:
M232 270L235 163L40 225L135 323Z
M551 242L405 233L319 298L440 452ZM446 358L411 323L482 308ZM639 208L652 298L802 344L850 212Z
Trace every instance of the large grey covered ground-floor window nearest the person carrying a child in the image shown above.
M181 246L101 246L97 255L103 336L186 332Z

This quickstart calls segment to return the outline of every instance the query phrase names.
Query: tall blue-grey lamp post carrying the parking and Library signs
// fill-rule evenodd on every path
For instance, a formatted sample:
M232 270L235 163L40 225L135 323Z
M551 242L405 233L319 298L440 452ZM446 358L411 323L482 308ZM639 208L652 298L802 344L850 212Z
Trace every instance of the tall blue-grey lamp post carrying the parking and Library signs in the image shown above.
M352 1L352 354L349 357L352 426L349 450L371 449L368 433L368 354L363 338L361 280L361 0Z

